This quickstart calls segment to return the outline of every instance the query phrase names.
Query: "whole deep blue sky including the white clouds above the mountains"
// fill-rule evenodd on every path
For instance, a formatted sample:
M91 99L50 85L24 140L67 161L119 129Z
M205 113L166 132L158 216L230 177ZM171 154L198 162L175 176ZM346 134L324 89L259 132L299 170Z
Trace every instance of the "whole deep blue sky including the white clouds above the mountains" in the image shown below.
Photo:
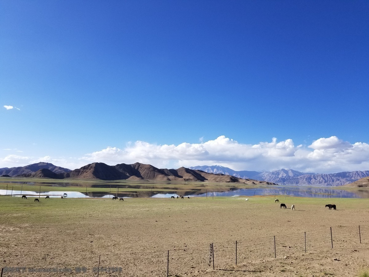
M368 1L3 0L0 38L0 167L369 170Z

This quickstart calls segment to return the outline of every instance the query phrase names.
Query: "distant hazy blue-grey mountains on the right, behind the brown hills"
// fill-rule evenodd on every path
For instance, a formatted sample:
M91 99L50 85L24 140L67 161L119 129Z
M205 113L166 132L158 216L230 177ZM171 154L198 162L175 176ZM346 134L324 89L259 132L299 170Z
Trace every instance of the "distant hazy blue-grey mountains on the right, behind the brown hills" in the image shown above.
M209 173L230 174L242 179L256 179L278 185L315 185L315 186L342 186L369 176L369 171L339 172L320 174L313 172L300 172L293 169L280 169L276 171L235 171L221 165L192 166L190 169L202 170Z

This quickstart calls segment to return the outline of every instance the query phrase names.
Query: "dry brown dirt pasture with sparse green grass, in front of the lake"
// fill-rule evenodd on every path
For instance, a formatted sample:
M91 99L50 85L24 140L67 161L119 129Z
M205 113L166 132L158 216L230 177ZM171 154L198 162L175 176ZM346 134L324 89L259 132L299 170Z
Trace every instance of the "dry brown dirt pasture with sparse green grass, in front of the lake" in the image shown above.
M287 197L281 209L274 197L248 198L36 203L0 196L0 267L4 277L98 276L99 265L99 276L137 277L166 276L167 268L169 276L255 277L359 276L368 269L368 199ZM72 272L30 272L41 268Z

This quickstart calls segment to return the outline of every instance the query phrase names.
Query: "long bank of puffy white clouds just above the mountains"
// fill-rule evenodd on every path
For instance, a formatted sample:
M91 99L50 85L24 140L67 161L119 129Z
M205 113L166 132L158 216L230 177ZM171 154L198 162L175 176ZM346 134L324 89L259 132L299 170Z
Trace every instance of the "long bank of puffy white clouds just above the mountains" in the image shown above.
M335 136L315 140L311 145L294 145L292 139L258 144L242 144L225 136L201 143L151 144L145 141L128 143L124 148L107 147L80 158L40 158L7 155L1 164L10 167L35 162L51 162L70 169L92 162L108 165L141 162L158 168L180 166L223 165L234 170L272 171L292 168L302 172L335 173L369 170L369 144L351 144ZM15 165L17 164L17 165ZM0 166L3 167L3 166Z

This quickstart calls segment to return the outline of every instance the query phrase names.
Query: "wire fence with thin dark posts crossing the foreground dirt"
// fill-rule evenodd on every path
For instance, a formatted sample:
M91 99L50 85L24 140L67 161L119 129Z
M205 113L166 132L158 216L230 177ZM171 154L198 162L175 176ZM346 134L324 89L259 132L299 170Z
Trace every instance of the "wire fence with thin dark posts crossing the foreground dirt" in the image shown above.
M211 269L227 269L235 264L283 258L304 252L326 252L327 249L368 249L369 225L336 226L287 235L270 235L237 241L203 243L194 247L145 252L114 252L107 255L87 253L79 261L58 263L35 259L47 264L48 270L35 264L4 267L1 277L55 276L80 273L79 276L182 276ZM44 271L42 271L44 270Z

